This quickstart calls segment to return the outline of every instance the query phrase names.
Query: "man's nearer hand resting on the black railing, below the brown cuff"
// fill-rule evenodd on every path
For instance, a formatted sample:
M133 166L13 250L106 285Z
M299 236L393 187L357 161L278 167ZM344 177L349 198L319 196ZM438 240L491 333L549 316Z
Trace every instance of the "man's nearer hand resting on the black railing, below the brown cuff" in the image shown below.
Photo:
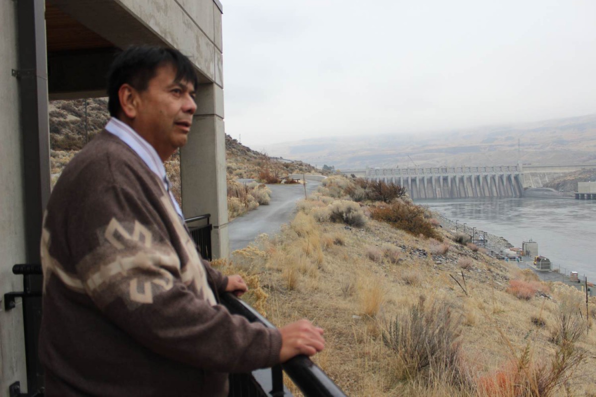
M299 320L280 328L281 352L280 361L304 354L312 356L325 348L323 329L312 325L311 321Z

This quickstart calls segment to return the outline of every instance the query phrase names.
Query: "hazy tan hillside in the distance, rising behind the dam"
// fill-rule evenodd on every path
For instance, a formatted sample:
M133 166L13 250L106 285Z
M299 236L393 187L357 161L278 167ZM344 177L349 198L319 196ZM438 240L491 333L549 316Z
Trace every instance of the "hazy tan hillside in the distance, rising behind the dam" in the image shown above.
M566 164L596 160L596 114L426 134L306 139L266 146L272 155L340 170L439 165ZM324 135L324 132L321 133Z

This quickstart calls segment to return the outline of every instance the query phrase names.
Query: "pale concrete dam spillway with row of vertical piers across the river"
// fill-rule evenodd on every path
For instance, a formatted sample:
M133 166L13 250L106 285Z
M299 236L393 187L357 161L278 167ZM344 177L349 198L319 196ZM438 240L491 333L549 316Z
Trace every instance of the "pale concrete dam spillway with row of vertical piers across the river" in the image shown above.
M365 176L406 187L412 199L521 197L517 165L432 168L368 168Z

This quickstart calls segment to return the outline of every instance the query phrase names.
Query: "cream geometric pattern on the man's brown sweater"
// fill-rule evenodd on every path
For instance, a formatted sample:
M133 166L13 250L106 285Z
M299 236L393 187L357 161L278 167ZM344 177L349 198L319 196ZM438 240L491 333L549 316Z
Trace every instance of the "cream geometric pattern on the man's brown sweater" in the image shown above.
M112 218L105 228L105 232L102 233L105 243L101 244L91 255L83 258L83 261L89 258L95 260L95 258L100 256L98 252L105 252L106 249L113 250L117 255L113 261L103 262L99 268L87 274L83 280L77 275L67 273L60 263L49 255L50 233L47 229L44 229L41 241L42 266L44 267L44 274L46 274L44 285L49 281L50 275L55 274L66 287L75 292L88 293L90 296L95 296L98 304L104 307L110 304L116 297L126 295L122 293L123 291L116 288L119 286L121 289L123 287L122 283L112 285L108 283L108 280L115 277L126 277L126 273L129 273L129 271L142 270L142 268L148 266L153 272L157 269L159 274L150 280L145 278L140 282L138 277L130 277L128 280L129 308L134 308L136 304L152 304L154 294L170 290L173 286L173 276L170 273L172 271L181 274L181 280L186 286L194 284L195 289L203 295L202 298L211 305L215 305L217 303L215 295L213 295L212 290L207 284L207 275L201 264L193 240L190 238L186 229L184 229L184 226L182 226L170 198L168 196L162 196L160 201L164 205L164 208L166 208L166 212L175 226L179 239L183 242L182 247L188 258L188 262L184 266L184 271L181 270L179 257L173 248L168 245L159 246L154 244L152 240L153 234L147 227L139 223L138 220L135 220L131 227L126 227L126 224L122 224L116 218ZM139 245L142 245L144 249L139 250ZM113 254L108 257L113 257ZM105 260L105 257L103 260ZM113 290L105 291L103 288L111 288Z

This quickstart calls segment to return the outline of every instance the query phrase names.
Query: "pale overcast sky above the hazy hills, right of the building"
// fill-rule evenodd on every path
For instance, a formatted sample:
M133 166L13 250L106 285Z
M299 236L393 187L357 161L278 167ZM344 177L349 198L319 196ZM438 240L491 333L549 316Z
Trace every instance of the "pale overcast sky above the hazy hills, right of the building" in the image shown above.
M226 133L254 149L596 113L596 1L222 4Z

